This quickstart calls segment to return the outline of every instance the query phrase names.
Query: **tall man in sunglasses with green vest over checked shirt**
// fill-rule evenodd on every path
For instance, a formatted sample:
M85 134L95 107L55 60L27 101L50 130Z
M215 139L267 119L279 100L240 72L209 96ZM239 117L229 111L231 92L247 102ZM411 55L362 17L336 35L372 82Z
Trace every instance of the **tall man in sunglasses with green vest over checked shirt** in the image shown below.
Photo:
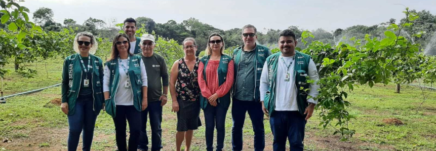
M242 28L244 45L233 51L234 84L232 90L231 129L232 150L243 150L242 129L248 112L254 131L254 150L265 148L263 112L260 103L259 82L266 58L271 55L268 48L256 44L257 29L253 25Z

